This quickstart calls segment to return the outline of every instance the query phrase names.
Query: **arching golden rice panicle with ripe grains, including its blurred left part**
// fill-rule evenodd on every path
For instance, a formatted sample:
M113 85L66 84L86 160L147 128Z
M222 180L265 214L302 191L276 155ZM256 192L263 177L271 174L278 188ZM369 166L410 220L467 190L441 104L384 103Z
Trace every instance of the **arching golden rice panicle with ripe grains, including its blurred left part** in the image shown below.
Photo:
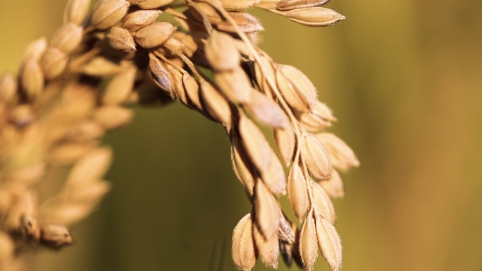
M281 253L312 270L320 249L339 270L330 198L342 197L338 171L357 158L324 132L335 118L307 76L255 46L263 28L244 12L332 25L344 17L320 7L327 1L99 0L90 15L89 0L68 1L64 25L27 47L18 76L0 78L0 270L28 268L23 258L39 248L70 245L68 226L109 191L102 178L111 151L99 138L130 121L123 106L170 100L221 124L232 143L253 205L233 232L235 265L251 270L261 258L276 268ZM281 161L261 131L268 128ZM286 194L299 223L278 203Z

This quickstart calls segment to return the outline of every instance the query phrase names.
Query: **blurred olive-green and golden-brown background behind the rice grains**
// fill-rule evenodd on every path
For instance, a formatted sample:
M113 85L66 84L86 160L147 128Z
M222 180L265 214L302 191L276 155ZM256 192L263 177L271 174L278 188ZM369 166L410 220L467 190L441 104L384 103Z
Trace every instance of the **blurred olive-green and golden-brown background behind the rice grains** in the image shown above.
M61 25L65 2L0 1L1 72ZM306 28L252 12L261 47L313 80L361 161L335 202L343 270L482 270L482 1L327 7L347 20ZM250 205L223 130L179 104L136 115L105 139L113 190L38 270L235 270L231 232ZM328 270L321 258L315 270Z

